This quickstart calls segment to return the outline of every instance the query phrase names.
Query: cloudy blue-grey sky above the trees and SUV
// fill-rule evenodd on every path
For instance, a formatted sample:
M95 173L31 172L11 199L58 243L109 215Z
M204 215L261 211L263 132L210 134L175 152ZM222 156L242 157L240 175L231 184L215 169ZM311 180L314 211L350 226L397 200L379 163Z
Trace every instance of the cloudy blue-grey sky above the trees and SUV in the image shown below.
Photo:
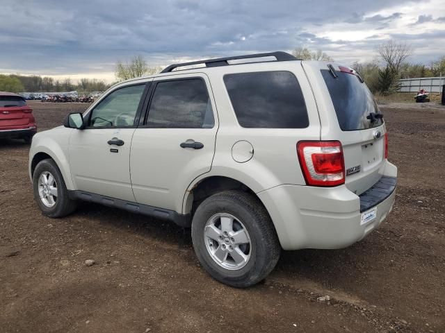
M297 46L350 65L391 38L411 62L445 55L444 0L0 1L0 73L111 82L138 54L169 65Z

